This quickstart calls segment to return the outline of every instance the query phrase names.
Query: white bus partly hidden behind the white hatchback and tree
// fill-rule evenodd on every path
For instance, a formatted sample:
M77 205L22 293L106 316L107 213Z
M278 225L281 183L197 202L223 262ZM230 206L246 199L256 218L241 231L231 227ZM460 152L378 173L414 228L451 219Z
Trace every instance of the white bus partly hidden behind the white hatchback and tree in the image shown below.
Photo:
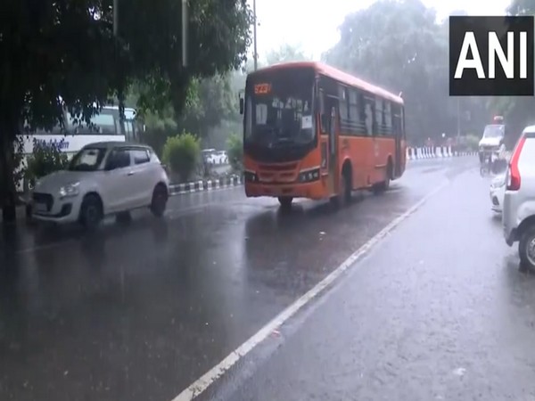
M85 123L75 125L68 111L65 111L63 120L65 121L63 130L55 127L52 131L37 130L32 134L24 134L24 155L28 156L33 152L34 140L48 145L61 144L59 147L70 158L88 143L139 142L140 134L144 131L144 126L136 119L136 110L131 108L125 108L124 129L121 129L119 106L104 106L99 114L91 118L91 124L94 127L87 127ZM24 168L26 164L25 159L22 160L21 168ZM28 186L21 181L17 189L20 192L26 192Z

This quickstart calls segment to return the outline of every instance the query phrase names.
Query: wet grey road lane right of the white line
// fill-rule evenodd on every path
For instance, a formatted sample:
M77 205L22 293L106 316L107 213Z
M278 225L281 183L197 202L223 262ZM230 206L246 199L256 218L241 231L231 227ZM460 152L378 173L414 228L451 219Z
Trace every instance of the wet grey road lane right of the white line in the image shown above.
M474 168L202 399L535 399L534 305Z

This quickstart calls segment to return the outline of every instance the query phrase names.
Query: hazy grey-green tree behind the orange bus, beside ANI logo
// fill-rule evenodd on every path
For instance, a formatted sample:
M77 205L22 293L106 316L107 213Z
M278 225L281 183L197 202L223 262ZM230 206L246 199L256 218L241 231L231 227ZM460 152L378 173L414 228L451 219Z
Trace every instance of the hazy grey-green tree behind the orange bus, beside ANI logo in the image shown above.
M406 102L407 136L415 144L457 135L488 119L481 99L449 98L448 21L419 0L380 0L346 17L341 39L325 61L364 78Z

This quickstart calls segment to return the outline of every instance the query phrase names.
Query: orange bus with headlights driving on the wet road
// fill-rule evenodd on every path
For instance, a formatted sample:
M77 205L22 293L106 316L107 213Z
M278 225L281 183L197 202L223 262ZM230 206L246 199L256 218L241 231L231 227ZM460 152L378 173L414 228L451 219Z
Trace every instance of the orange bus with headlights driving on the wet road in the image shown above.
M350 201L405 171L401 97L320 62L251 72L240 98L247 197Z

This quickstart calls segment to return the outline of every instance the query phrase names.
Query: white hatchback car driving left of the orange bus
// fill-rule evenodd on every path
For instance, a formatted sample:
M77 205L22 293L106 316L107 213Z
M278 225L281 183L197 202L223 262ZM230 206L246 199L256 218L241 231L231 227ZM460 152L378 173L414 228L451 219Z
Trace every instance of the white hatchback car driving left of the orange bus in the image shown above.
M150 146L105 142L84 146L67 170L39 179L32 192L32 217L53 223L99 225L106 215L148 207L163 216L169 178Z

